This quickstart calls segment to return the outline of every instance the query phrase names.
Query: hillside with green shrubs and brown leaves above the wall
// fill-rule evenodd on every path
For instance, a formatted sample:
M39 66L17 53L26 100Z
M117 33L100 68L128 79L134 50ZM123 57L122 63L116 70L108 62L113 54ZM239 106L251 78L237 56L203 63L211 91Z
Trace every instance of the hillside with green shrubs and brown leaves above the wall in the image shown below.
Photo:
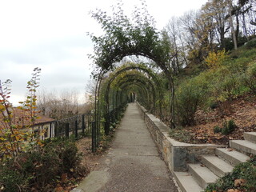
M176 96L178 106L186 109L180 112L183 125L171 130L171 137L181 142L228 144L229 139L242 139L245 131L256 131L255 66L256 49L242 46L227 54L215 69L186 68ZM198 105L193 114L194 102ZM230 120L234 131L223 133Z

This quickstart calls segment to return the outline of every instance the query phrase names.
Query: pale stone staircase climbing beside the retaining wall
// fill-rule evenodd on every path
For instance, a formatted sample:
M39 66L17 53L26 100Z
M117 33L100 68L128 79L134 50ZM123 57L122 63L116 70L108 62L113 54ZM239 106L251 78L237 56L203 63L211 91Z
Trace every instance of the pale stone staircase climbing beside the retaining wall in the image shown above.
M182 192L200 192L230 173L238 163L256 155L256 132L244 133L245 140L230 140L230 148L217 148L216 155L202 155L201 163L187 164L187 172L174 172Z

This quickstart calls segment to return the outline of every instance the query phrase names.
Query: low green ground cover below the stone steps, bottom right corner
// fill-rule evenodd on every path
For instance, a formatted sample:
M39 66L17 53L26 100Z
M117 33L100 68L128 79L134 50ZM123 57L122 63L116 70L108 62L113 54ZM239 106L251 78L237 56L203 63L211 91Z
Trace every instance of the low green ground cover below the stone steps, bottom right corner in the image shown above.
M223 178L218 179L214 184L206 187L206 192L224 192L229 189L238 189L241 191L256 191L256 161L252 158L250 162L243 162L234 167L232 173L227 174ZM236 179L243 179L242 185L235 185Z

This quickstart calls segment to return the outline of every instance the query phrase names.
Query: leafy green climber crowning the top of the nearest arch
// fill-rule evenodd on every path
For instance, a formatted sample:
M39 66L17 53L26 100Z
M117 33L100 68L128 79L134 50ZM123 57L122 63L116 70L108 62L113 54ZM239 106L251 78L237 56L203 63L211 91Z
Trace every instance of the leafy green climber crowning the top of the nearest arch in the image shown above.
M170 63L170 45L154 26L154 19L146 10L146 3L142 2L142 9L134 10L134 18L130 19L122 10L122 1L113 8L113 15L109 16L102 10L91 13L105 31L100 37L90 34L94 42L94 60L96 66L110 70L115 62L130 55L141 55L154 60L159 66L166 67ZM96 71L98 72L98 71Z

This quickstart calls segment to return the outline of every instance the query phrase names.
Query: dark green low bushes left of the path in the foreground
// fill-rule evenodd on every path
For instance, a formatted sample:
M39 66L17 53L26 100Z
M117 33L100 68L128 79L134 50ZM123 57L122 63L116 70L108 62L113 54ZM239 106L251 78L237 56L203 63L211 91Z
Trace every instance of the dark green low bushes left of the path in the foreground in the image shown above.
M39 150L19 154L0 165L2 191L52 191L62 174L78 174L78 149L74 140L56 138Z

